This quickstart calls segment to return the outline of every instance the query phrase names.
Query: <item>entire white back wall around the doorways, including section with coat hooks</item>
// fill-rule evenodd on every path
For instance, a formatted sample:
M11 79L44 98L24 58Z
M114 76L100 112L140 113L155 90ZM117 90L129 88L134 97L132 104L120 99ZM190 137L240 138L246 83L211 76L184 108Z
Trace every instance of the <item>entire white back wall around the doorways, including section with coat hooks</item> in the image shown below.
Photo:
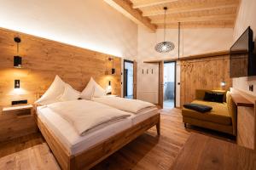
M154 50L154 46L158 42L163 41L163 30L159 29L156 33L148 32L143 27L138 28L138 70L146 69L150 67L149 64L144 64L144 60L154 60L154 59L171 59L177 57L177 29L168 29L166 31L166 40L172 41L175 43L175 49L167 54L160 54ZM181 30L181 57L190 55L190 54L202 54L207 52L228 50L233 41L233 29L230 28L206 28L206 29L182 29ZM154 66L155 69L158 69L158 66ZM156 78L157 77L157 78ZM143 81L141 81L143 79ZM144 89L148 89L154 92L155 99L158 102L158 75L155 75L155 80L152 81L150 77L145 80L142 78L141 74L138 74L138 99L143 99L140 94L143 94ZM180 69L177 65L177 83L180 80ZM149 83L150 82L150 83ZM179 85L177 84L177 99L176 103L179 106ZM153 96L153 95L152 95ZM151 96L151 97L152 97Z

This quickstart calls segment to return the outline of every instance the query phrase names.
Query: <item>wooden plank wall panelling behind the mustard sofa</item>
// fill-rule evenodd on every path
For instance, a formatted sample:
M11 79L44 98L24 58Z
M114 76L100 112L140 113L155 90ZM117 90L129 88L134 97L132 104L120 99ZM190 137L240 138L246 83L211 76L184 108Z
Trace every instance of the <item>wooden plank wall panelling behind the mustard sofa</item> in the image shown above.
M224 89L232 87L229 55L180 61L181 105L195 99L195 89ZM226 86L220 86L221 81Z

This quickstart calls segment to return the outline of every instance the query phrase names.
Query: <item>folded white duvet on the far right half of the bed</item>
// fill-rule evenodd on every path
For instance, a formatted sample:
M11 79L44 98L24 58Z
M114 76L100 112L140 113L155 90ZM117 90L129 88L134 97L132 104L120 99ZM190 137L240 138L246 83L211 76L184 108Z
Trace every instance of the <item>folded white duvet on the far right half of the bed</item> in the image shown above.
M119 97L101 97L93 98L94 101L102 103L104 105L112 106L122 111L129 111L132 113L138 113L148 107L155 107L155 105L139 100L139 99L125 99Z

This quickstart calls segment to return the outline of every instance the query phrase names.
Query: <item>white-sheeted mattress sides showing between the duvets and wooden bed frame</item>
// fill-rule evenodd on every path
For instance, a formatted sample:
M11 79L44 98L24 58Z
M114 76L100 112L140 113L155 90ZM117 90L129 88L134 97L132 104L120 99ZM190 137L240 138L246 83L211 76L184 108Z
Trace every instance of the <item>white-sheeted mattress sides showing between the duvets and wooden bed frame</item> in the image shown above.
M108 139L110 136L120 133L139 122L143 122L148 117L154 116L157 113L157 108L147 108L138 114L132 114L122 121L114 122L108 125L108 127L86 134L85 136L80 136L69 122L48 107L38 106L37 108L38 118L60 139L70 155L79 154L79 152L89 149L102 140Z

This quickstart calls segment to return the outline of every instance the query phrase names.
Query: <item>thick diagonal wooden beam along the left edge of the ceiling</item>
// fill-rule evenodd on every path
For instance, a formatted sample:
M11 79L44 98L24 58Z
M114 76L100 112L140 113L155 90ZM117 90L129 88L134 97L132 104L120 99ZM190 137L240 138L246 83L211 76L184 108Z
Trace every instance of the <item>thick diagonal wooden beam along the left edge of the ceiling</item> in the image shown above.
M104 0L113 8L117 9L120 13L124 14L129 19L141 26L147 27L151 31L156 31L157 26L152 24L148 17L142 15L138 9L132 8L132 4L126 0Z

